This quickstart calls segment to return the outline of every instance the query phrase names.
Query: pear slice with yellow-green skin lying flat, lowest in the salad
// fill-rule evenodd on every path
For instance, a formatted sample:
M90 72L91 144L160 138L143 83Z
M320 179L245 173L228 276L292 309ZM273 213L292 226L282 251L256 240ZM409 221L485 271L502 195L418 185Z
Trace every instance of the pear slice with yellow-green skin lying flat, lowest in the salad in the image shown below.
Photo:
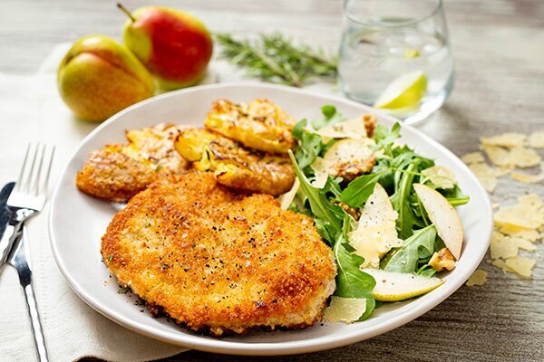
M420 296L440 287L444 281L437 277L424 277L406 272L363 269L376 281L372 294L375 300L399 301Z

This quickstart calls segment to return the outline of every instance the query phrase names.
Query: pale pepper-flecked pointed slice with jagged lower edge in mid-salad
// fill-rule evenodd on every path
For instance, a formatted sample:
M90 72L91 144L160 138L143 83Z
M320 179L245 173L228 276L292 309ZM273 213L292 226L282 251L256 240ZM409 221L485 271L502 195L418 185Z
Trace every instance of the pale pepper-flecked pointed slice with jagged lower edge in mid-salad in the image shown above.
M374 186L374 192L364 204L357 228L349 233L349 243L355 254L364 257L363 267L378 268L380 259L395 246L400 246L395 222L398 217L384 187Z

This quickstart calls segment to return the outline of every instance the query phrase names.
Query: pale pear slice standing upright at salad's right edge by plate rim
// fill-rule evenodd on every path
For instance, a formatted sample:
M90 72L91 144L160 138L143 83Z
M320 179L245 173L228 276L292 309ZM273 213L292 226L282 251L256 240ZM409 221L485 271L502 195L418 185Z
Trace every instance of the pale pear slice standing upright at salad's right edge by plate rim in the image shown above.
M413 184L413 189L436 227L436 232L452 252L455 260L459 260L462 248L462 224L459 214L448 200L433 188Z

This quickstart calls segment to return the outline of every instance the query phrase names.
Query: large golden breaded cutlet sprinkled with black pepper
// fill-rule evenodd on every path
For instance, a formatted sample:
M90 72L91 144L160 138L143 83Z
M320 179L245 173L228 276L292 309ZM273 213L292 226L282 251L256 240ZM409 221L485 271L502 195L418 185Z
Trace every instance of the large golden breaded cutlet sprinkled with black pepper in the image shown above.
M335 291L335 258L313 221L210 173L151 184L116 214L102 257L120 285L190 329L220 336L301 329Z

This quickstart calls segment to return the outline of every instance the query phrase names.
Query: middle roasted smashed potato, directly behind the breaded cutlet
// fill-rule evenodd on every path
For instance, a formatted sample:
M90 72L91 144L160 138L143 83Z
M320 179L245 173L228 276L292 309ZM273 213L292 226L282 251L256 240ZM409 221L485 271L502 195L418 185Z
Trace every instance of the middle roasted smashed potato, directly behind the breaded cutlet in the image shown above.
M183 157L199 171L213 171L219 184L237 190L281 195L295 181L289 158L242 147L207 129L189 129L175 142Z

